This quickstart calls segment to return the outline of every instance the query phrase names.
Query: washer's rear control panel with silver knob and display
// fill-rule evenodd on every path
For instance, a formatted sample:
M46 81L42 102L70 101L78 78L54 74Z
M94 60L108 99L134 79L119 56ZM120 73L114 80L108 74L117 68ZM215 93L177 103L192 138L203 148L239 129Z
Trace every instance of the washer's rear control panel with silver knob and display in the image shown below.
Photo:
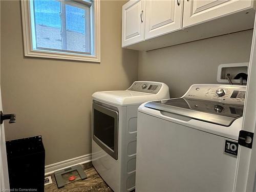
M184 95L186 98L244 104L246 86L194 84ZM221 110L221 109L216 109Z

